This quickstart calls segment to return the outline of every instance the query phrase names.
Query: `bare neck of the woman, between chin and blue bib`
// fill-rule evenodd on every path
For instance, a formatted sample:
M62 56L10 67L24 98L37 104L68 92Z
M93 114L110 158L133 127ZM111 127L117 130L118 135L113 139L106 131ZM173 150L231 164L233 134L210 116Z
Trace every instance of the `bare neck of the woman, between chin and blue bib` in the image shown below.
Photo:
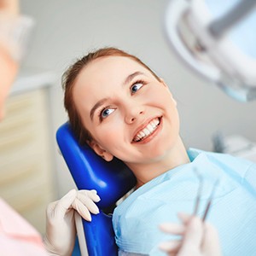
M158 177L162 173L189 162L189 155L183 145L182 139L179 137L175 147L169 150L165 156L160 158L160 160L140 166L132 166L131 170L137 177L137 188L139 188L154 177Z

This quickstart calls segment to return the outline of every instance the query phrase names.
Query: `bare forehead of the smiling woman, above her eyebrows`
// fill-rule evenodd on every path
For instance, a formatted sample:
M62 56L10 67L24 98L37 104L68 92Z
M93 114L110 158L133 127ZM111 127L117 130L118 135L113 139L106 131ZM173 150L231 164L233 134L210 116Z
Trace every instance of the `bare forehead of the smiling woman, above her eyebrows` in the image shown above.
M128 57L106 56L91 61L81 70L73 85L77 108L91 108L96 101L111 96L129 75L136 72L153 77L146 67Z

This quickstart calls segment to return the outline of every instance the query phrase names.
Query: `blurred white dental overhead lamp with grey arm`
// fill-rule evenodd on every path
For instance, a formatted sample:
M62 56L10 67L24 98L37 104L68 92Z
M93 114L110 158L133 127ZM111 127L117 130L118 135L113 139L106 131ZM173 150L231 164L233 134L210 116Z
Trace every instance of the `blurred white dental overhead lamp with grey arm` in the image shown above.
M238 101L256 100L256 0L171 0L166 35L201 77Z

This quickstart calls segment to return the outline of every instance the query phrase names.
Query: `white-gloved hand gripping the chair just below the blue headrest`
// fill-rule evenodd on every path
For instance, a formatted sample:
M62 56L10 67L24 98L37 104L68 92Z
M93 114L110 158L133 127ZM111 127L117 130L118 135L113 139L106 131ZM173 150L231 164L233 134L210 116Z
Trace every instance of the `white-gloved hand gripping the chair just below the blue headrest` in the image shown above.
M49 255L71 255L76 238L74 211L90 221L90 212L97 214L94 202L100 201L96 190L69 191L61 200L49 204L46 215L44 247Z

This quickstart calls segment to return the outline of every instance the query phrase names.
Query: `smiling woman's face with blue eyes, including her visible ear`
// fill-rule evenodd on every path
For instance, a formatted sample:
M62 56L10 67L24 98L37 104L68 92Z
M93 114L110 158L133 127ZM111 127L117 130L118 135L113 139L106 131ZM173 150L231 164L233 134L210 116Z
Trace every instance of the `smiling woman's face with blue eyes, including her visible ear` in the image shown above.
M73 100L105 160L116 156L131 170L165 159L177 143L176 102L166 84L127 57L96 59L79 73Z

